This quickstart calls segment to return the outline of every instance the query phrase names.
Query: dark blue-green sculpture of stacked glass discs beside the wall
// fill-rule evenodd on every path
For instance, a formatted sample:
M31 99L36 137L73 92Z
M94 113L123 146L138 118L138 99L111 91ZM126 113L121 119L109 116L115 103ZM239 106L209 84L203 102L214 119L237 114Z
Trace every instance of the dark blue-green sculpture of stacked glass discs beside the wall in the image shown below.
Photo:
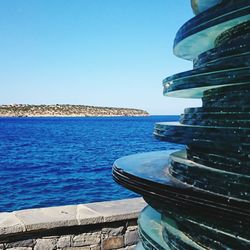
M193 0L196 16L174 53L194 69L167 77L164 95L202 98L154 135L185 144L118 159L113 177L149 204L142 249L250 249L250 1Z

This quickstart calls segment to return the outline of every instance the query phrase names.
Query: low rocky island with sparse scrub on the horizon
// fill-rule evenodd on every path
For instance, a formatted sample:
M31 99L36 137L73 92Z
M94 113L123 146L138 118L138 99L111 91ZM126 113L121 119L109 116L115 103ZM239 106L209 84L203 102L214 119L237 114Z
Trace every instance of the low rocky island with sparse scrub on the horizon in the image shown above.
M0 105L0 117L88 117L88 116L147 116L141 109L95 107L86 105Z

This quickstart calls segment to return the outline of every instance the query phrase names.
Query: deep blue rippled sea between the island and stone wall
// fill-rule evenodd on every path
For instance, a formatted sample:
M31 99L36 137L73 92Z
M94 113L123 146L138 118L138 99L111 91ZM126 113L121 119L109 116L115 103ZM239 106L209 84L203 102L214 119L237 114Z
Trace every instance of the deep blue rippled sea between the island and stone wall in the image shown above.
M182 146L155 122L178 116L0 118L0 212L136 197L112 179L122 156Z

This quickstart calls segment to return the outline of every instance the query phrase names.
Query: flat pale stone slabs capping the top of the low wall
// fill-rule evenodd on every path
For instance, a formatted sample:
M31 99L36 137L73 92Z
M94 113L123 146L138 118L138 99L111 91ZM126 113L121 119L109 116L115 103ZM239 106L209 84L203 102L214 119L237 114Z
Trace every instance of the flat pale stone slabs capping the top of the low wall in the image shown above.
M0 213L0 235L136 219L142 198Z

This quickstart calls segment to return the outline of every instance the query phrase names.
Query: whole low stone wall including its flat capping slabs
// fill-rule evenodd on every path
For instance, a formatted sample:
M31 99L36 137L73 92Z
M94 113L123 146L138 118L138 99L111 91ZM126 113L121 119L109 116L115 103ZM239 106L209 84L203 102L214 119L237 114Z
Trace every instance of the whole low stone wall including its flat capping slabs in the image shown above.
M141 198L0 213L0 249L133 249Z

